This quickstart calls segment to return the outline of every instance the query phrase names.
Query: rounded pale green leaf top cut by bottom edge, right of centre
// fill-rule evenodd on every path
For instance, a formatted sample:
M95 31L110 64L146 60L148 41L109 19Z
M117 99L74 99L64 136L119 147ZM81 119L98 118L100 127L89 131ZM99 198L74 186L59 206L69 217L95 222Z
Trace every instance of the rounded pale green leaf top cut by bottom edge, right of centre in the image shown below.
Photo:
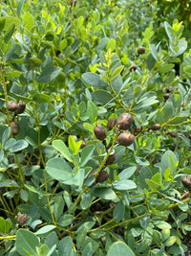
M107 252L107 256L136 256L133 250L123 242L115 242L112 244Z

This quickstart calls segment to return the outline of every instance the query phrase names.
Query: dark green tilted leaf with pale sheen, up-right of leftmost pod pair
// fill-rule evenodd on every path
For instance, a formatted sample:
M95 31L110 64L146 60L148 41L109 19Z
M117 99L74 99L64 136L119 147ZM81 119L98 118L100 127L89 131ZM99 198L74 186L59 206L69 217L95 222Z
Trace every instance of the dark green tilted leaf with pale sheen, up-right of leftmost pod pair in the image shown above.
M61 68L57 66L49 66L42 71L40 76L37 78L38 82L53 81L61 72Z

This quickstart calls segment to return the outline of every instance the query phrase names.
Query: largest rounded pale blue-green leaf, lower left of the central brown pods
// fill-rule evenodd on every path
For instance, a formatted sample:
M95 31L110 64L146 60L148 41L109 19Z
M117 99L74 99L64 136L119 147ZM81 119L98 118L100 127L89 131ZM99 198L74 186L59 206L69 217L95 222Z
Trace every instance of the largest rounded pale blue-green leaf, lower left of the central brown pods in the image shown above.
M72 177L70 165L62 158L53 158L47 162L47 173L56 180L64 183Z

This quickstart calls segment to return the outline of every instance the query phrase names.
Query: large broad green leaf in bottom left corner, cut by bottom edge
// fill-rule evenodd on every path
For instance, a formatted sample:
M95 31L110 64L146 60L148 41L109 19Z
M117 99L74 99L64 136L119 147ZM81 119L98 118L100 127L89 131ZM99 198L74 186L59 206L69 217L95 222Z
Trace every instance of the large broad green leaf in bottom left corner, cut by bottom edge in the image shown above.
M39 246L39 239L29 230L20 228L16 232L16 251L21 256L26 256L26 252L36 255L35 247Z

